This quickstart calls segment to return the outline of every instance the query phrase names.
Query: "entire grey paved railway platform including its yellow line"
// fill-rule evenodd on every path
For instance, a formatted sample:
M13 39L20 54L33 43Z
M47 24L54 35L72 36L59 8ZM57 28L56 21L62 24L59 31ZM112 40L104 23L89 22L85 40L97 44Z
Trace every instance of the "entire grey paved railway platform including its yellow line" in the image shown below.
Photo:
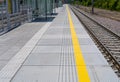
M0 43L0 82L120 82L68 5L53 21L24 24Z

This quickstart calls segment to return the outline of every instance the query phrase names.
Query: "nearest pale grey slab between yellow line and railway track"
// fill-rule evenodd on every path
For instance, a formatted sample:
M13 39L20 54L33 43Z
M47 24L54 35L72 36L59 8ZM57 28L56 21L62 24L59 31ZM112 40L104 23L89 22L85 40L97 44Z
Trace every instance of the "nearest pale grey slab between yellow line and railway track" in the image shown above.
M91 82L120 82L111 67L90 66L87 68Z

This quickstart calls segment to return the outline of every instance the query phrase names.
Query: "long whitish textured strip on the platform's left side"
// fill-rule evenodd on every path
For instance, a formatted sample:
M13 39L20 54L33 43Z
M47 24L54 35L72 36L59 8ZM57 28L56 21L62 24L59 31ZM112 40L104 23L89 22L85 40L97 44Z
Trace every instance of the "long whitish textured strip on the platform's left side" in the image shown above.
M0 82L10 82L52 22L45 24L0 71Z

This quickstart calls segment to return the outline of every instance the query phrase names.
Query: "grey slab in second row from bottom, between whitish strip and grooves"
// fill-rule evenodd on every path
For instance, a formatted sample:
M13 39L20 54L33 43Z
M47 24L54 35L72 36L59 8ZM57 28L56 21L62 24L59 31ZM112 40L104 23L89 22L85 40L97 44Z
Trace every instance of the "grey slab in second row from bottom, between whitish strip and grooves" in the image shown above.
M60 55L61 54L30 54L30 56L25 61L24 65L60 65Z

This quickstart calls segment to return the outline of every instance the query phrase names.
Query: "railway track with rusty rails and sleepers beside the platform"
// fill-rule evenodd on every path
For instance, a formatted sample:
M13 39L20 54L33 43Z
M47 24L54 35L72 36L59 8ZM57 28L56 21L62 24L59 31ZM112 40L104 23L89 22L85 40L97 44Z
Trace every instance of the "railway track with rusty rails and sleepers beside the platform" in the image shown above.
M74 6L70 7L120 77L120 36L96 22L80 9Z

